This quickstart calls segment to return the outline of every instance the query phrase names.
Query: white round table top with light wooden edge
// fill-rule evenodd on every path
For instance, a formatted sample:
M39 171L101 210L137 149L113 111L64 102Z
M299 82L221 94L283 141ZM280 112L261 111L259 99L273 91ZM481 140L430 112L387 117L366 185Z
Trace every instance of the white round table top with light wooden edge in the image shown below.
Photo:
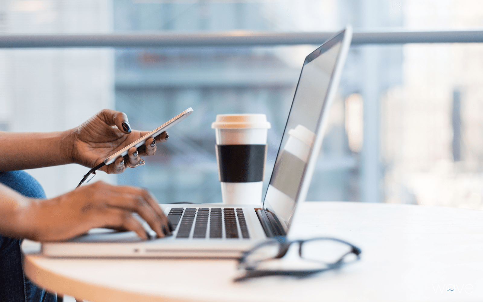
M93 302L483 301L483 211L304 202L290 237L313 236L347 240L361 260L233 283L234 260L49 259L26 242L24 267L39 286Z

